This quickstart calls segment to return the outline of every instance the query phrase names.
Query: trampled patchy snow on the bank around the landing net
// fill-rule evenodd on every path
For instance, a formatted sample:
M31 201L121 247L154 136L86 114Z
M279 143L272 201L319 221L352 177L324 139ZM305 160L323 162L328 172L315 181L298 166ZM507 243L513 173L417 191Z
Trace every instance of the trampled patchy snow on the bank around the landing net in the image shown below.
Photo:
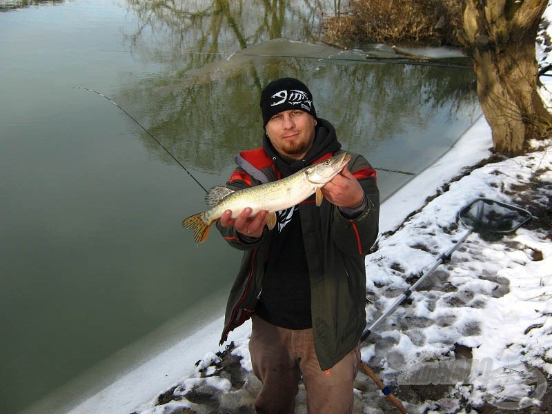
M535 175L540 175L540 192L531 188ZM453 182L368 256L368 297L374 302L367 308L368 320L395 302L412 283L409 279L430 268L468 231L457 220L463 206L478 197L525 204L521 197L539 194L549 206L551 150L488 164ZM551 269L552 244L544 233L520 228L491 240L473 233L451 262L411 295L411 304L398 308L368 339L373 344L364 346L363 359L382 367L398 384L408 384L409 374L436 360L457 367L455 348L469 348L473 369L464 380L473 388L466 400L477 404L528 395L522 383L507 386L493 375L500 377L505 366L522 372L533 366L552 374Z

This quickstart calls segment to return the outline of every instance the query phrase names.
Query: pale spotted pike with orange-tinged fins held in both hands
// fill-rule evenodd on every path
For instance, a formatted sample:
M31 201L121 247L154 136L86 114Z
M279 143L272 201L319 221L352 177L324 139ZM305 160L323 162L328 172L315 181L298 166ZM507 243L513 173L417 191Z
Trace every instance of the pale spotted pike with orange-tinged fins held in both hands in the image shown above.
M339 174L350 160L351 155L344 152L302 168L289 177L242 190L214 186L205 196L211 208L186 217L182 227L193 230L195 241L202 243L207 239L211 224L219 220L222 213L232 210L232 218L235 219L244 208L249 207L253 210L252 216L262 210L268 211L266 226L272 230L276 226L277 211L296 206L313 194L316 194L316 205L320 206L324 198L320 188Z

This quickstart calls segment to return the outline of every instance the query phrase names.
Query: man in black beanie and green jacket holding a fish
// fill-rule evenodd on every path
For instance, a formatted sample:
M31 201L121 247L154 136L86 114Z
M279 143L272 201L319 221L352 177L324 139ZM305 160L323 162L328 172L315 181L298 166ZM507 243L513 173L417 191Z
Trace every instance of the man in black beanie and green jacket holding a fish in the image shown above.
M275 181L342 152L335 129L318 118L313 97L293 78L262 90L266 134L262 148L241 152L228 180L233 189ZM313 196L277 213L266 211L217 222L226 241L244 250L228 299L221 343L253 316L249 342L253 371L262 382L259 413L294 413L302 376L309 413L351 413L359 338L366 326L364 256L378 233L380 195L375 171L351 154L342 172Z

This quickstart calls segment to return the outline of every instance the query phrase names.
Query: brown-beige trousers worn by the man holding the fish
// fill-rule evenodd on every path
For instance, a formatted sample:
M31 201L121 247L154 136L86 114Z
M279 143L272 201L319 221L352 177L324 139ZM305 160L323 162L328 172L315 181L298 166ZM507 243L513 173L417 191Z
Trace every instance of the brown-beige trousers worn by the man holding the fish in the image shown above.
M257 413L293 414L299 379L303 376L310 414L353 411L353 381L360 364L360 346L327 371L320 369L312 329L286 329L253 316L249 352L262 389Z

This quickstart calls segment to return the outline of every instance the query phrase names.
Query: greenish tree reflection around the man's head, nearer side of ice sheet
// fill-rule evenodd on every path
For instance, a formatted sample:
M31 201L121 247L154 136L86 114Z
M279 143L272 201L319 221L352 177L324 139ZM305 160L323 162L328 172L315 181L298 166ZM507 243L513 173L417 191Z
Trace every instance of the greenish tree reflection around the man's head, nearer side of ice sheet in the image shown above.
M255 47L259 57L240 59L239 64L235 55L208 70L141 79L123 99L139 95L147 101L139 116L148 119L154 135L186 165L207 172L231 164L238 150L259 145L258 99L262 86L276 77L304 80L313 91L317 113L335 124L344 147L382 168L408 165L419 172L427 165L423 155L428 147L450 145L462 132L455 130L455 121L478 115L469 71L264 57L277 48L289 53L288 46L288 41L269 42ZM432 126L444 131L435 135L428 130ZM443 140L447 133L450 139ZM145 145L153 145L143 138Z

